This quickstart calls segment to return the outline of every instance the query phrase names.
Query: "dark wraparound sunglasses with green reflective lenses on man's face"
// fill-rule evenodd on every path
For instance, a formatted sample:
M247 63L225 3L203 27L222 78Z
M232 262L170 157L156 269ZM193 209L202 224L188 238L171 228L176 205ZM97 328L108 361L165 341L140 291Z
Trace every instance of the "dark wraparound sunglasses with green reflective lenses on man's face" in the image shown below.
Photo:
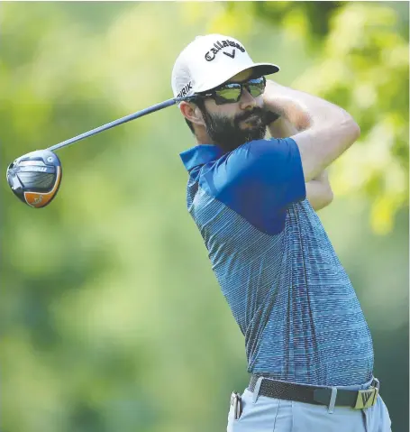
M266 79L260 77L241 83L223 84L207 92L198 93L196 97L212 97L216 105L233 104L241 99L243 88L246 88L252 97L259 97L265 91L265 87Z

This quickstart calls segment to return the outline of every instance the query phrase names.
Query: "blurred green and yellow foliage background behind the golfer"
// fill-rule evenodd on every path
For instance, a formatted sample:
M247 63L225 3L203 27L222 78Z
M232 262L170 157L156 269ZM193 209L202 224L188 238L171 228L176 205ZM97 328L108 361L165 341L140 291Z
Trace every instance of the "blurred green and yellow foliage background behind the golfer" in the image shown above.
M320 216L374 339L393 430L408 430L408 3L0 5L1 170L171 97L197 34L242 41L279 83L343 106L360 142ZM59 152L58 198L1 182L2 431L223 431L248 383L243 338L187 214L171 107Z

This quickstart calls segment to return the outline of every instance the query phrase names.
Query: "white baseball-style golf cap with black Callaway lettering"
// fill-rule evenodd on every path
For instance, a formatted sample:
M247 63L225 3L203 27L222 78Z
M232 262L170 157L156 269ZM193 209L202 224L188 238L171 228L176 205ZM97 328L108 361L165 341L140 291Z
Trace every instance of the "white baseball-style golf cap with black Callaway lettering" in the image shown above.
M240 41L222 34L197 36L178 56L172 69L174 97L187 97L220 86L246 69L261 77L278 72L271 63L254 63Z

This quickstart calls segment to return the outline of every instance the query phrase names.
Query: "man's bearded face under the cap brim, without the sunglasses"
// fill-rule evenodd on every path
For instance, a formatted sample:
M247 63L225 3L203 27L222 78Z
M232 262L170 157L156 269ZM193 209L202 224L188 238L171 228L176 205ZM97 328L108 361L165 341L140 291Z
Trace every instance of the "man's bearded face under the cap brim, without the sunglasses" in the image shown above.
M250 78L251 71L246 70L232 77L229 82L243 82ZM246 88L243 88L239 102L216 105L214 99L207 98L204 106L200 106L206 133L225 152L265 136L267 123L262 108L263 95L252 97Z

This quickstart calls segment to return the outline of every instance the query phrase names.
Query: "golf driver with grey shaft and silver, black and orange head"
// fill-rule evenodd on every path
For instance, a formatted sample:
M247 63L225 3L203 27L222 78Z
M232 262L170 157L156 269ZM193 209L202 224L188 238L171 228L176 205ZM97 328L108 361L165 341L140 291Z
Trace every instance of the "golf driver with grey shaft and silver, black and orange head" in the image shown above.
M13 161L7 168L6 179L14 195L21 199L24 204L31 207L41 208L50 204L59 191L61 183L61 162L54 153L56 150L67 147L74 142L84 140L96 133L104 132L107 129L124 124L139 118L143 115L159 111L178 104L183 100L190 100L192 97L173 98L157 105L142 109L131 115L103 124L86 133L81 133L67 141L59 142L45 150L37 150L24 154Z

